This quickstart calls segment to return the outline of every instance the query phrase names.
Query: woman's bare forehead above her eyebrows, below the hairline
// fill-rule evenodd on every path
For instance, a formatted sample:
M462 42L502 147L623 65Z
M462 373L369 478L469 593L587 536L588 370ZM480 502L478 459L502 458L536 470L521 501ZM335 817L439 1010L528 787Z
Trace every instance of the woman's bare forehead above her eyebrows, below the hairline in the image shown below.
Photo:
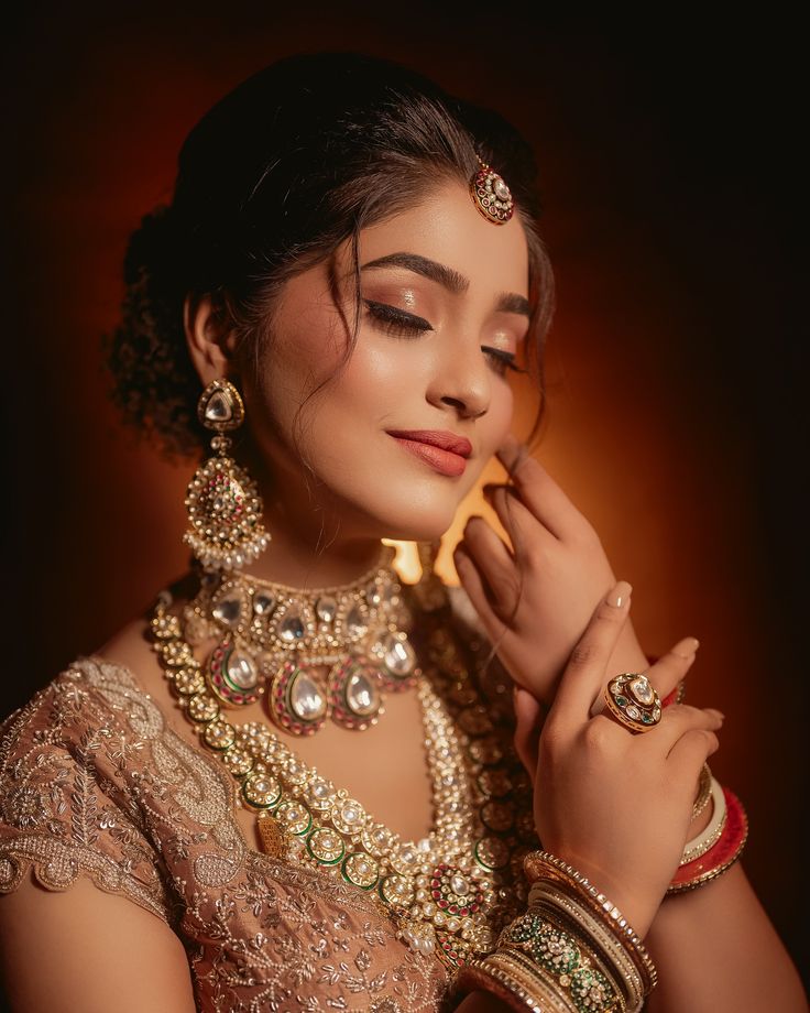
M469 279L471 294L528 294L528 246L518 216L505 225L488 221L460 183L446 183L412 208L361 230L361 265L402 252L452 268Z

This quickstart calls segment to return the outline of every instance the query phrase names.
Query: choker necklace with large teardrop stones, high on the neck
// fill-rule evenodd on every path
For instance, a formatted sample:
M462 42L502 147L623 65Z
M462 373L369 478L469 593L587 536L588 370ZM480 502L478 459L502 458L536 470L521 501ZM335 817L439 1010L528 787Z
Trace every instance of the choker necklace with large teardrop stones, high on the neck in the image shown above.
M419 674L393 558L385 546L351 584L311 590L202 571L180 634L193 646L216 645L185 676L188 686L196 691L202 679L226 707L266 694L274 723L294 736L314 734L327 718L355 731L376 725L385 694L412 687Z

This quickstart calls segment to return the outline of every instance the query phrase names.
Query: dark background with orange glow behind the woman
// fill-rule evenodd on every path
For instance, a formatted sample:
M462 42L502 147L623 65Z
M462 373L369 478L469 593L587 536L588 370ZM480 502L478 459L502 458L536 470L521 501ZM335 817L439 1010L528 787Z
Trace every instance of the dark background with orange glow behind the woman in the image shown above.
M647 651L700 638L689 698L726 714L712 767L747 806L748 873L807 968L799 25L773 6L749 21L165 7L44 3L6 26L0 711L185 565L189 467L122 431L100 336L187 130L282 55L399 59L504 112L538 153L558 276L538 456L632 580Z

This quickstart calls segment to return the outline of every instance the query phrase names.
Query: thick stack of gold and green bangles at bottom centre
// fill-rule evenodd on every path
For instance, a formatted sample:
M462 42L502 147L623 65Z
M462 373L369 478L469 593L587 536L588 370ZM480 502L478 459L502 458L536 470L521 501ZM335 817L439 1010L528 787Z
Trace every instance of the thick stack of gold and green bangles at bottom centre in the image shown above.
M633 1013L657 979L642 940L581 873L546 851L524 860L529 907L497 948L462 968L459 985L494 992L515 1010Z

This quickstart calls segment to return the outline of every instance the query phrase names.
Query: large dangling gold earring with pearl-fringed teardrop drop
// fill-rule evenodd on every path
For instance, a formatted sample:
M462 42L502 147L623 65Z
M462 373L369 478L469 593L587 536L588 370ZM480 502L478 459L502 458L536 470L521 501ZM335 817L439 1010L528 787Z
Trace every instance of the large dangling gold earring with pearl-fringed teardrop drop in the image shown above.
M214 380L200 394L197 416L216 436L214 456L194 473L186 493L189 530L183 541L207 570L252 563L270 542L262 524L262 501L253 479L228 457L225 433L244 422L244 404L229 380Z

